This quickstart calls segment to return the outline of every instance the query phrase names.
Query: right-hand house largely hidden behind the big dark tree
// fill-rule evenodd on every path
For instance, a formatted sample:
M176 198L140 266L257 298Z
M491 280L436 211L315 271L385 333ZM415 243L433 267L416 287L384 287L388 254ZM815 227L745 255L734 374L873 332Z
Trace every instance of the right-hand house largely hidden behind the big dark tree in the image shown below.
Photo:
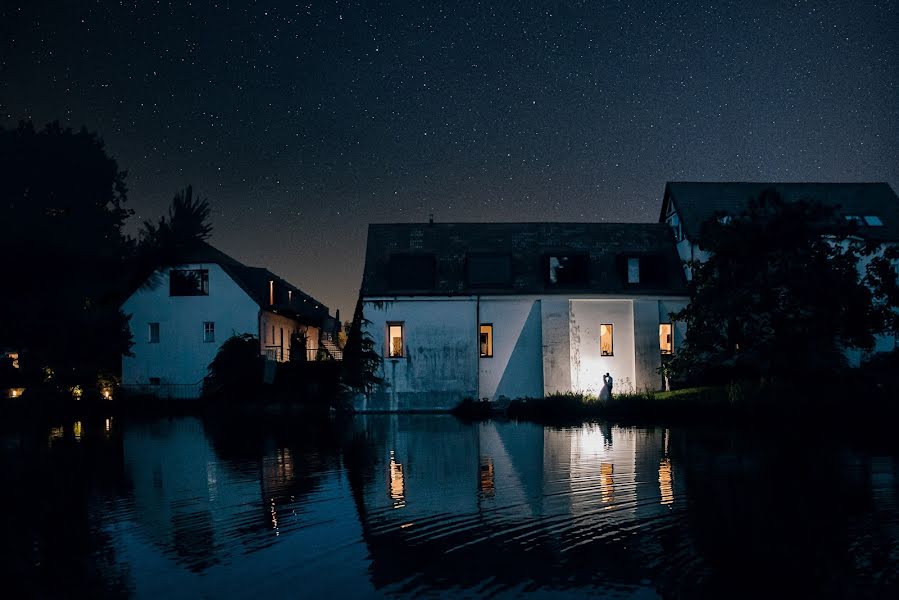
M766 190L775 190L786 202L809 201L836 209L838 217L858 225L863 239L894 245L899 243L899 197L886 183L715 183L669 182L665 186L659 221L674 232L678 255L683 261L704 261L708 250L702 245L702 225L718 215L737 216L750 201ZM864 270L866 261L859 264ZM692 278L688 266L687 279ZM877 336L875 352L896 348L893 335ZM851 366L862 361L859 350L847 351Z

